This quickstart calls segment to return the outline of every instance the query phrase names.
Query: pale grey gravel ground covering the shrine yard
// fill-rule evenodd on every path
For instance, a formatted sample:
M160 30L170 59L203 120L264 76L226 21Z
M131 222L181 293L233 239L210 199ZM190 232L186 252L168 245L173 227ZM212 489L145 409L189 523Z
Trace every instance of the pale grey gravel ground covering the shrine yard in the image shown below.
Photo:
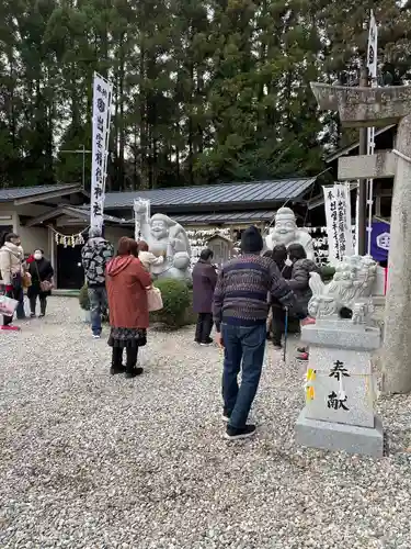
M0 332L1 548L411 548L411 397L379 402L381 460L299 448L304 372L270 348L259 434L230 444L192 328L152 330L125 380L77 300L22 327Z

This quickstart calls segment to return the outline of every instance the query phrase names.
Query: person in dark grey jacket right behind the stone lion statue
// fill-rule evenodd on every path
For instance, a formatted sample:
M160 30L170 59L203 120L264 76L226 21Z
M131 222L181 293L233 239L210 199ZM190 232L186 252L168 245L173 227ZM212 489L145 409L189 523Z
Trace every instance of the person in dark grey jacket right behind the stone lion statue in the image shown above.
M300 244L292 244L287 251L293 264L290 279L287 282L296 295L298 309L308 314L308 302L312 298L312 291L309 287L310 273L320 272L320 270L311 259L307 258L306 250ZM307 347L298 347L297 351L298 360L308 360Z

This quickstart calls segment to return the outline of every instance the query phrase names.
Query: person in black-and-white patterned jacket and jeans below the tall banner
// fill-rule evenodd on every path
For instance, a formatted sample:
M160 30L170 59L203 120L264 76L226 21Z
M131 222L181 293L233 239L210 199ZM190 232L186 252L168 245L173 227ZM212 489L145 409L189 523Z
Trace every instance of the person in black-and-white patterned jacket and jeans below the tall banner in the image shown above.
M102 315L107 309L105 269L113 256L113 245L102 237L102 233L99 228L91 227L89 231L89 239L81 250L81 260L88 285L91 332L94 339L100 339L101 337Z

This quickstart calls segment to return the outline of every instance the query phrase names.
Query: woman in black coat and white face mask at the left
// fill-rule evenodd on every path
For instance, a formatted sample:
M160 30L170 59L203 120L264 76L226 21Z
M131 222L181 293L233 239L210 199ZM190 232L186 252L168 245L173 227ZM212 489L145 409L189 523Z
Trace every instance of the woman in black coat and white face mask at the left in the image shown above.
M27 298L30 301L31 316L36 315L36 301L39 299L39 318L46 314L47 296L50 295L50 290L42 289L42 282L52 282L54 269L52 264L44 257L43 249L35 249L33 256L27 259L28 272L32 276L32 285L27 289Z

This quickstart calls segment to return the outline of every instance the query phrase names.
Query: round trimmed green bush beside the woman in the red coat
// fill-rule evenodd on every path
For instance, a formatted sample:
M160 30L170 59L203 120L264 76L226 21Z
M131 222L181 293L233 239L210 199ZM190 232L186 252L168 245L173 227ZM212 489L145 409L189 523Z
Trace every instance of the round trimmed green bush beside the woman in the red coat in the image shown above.
M163 307L151 313L153 322L161 322L172 328L186 324L191 298L187 284L182 280L160 279L155 287L161 291Z

